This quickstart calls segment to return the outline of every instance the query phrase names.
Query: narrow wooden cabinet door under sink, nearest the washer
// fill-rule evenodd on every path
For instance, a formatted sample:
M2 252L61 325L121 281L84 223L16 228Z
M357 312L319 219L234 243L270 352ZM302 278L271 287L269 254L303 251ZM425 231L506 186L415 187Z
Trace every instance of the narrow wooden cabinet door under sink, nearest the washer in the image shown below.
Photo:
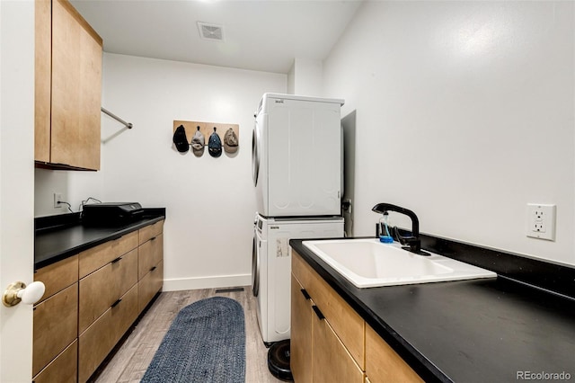
M291 276L291 341L289 363L297 383L312 382L312 301Z

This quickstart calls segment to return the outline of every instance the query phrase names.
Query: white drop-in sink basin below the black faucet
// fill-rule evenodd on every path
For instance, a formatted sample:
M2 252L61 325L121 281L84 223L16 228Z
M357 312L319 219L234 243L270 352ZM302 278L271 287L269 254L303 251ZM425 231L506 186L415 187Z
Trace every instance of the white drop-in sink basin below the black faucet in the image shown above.
M358 288L497 277L495 272L468 263L433 253L413 254L398 243L382 244L378 239L325 239L302 244Z

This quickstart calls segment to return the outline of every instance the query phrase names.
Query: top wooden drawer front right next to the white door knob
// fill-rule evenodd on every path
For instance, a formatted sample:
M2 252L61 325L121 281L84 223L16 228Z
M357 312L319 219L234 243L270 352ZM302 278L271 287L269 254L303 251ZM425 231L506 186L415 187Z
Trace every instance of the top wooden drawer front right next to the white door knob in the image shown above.
M78 281L78 255L42 267L34 272L34 281L44 282L46 290L40 302Z

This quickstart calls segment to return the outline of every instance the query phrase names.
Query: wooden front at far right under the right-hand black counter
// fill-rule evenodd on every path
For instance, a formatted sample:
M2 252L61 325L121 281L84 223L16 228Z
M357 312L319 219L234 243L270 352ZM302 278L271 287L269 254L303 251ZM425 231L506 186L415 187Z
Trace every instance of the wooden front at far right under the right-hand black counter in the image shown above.
M369 325L366 325L366 375L373 382L423 382Z

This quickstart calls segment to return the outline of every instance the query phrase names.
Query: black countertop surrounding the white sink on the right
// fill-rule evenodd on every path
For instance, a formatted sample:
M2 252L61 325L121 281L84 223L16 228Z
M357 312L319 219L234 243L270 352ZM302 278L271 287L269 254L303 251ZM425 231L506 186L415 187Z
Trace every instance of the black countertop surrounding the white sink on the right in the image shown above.
M571 297L503 275L358 289L301 240L290 245L428 382L575 379Z

